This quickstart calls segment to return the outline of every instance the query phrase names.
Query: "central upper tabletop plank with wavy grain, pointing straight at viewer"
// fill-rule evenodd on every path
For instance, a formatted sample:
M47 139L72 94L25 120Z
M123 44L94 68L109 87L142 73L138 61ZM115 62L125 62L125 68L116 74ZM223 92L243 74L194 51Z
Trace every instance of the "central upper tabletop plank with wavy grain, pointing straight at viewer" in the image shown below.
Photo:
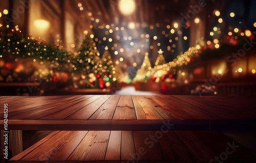
M136 120L135 109L131 96L121 96L113 120Z

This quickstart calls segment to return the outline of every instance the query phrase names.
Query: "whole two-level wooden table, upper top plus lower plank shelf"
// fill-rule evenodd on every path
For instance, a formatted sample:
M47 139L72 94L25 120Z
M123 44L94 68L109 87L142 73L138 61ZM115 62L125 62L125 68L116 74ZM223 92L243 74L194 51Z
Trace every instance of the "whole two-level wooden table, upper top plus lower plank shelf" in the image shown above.
M120 162L122 157L124 160L130 159L122 154L123 150L133 154L138 152L140 147L145 147L148 153L141 158L145 162L209 162L209 158L214 158L222 150L225 151L226 143L231 141L215 130L256 128L254 97L74 95L3 96L0 100L2 105L8 103L9 130L55 130L46 139L14 157L14 162L40 162L42 159L38 160L38 156L41 151L56 150L55 147L59 147L61 142L65 144L60 145L58 152L48 151L53 155L48 154L51 158L44 157L44 160L51 159L54 162L63 158L63 161L71 162ZM1 112L0 119L3 120L3 117ZM0 121L1 130L4 129L3 124L3 121ZM148 149L144 140L149 135L163 130L163 127L173 131L164 133L163 139L159 140L154 148ZM58 141L55 137L62 139ZM216 141L209 142L212 139ZM69 141L71 143L68 143ZM197 143L198 141L201 143ZM88 142L92 142L92 147ZM93 142L99 144L93 145ZM221 145L221 148L218 148L218 145ZM122 149L122 146L127 148ZM80 148L94 154L85 158ZM93 152L94 148L98 151ZM118 150L114 150L115 148ZM75 153L65 153L65 157L62 157L61 151L67 149ZM191 149L195 151L190 151ZM240 156L243 157L232 156L228 160L256 160L253 152L248 152L244 147L240 149ZM168 156L170 152L174 157ZM183 152L188 154L184 155Z

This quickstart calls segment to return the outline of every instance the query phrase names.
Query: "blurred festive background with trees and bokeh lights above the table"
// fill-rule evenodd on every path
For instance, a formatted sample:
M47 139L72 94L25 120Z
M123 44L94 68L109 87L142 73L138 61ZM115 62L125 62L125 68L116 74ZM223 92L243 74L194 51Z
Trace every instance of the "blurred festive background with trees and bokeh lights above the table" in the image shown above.
M1 95L256 95L256 1L2 0Z

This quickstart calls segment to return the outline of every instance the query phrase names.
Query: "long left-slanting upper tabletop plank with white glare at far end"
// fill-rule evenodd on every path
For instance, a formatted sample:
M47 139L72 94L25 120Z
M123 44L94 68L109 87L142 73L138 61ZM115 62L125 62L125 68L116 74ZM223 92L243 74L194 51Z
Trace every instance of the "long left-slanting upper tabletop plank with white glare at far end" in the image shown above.
M56 111L55 113L49 114L45 117L42 117L40 119L42 120L63 120L69 117L71 114L79 111L84 106L87 106L88 104L92 103L93 101L99 99L102 97L101 95L94 95L90 98L87 98L79 103L76 103L75 105L66 107L62 110Z

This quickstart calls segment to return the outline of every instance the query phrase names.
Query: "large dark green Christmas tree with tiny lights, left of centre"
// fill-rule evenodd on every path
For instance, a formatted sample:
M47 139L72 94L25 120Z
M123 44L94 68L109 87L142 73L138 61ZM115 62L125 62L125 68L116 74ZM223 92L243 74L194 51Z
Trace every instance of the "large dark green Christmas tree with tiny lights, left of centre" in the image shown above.
M98 51L95 42L87 34L78 52L73 57L73 70L74 72L88 75L90 73L97 73L97 57Z

